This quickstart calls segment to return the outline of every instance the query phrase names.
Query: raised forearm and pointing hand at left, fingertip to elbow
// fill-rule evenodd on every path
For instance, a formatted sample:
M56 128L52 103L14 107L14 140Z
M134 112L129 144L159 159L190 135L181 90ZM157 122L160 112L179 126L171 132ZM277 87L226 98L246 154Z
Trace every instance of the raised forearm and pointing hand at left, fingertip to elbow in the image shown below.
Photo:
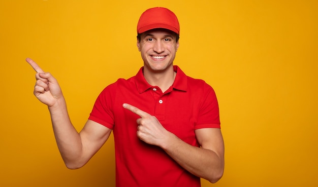
M57 80L32 59L27 58L26 61L37 72L34 95L49 108L56 143L64 162L69 168L83 166L89 154L85 156L83 152L81 137L71 123Z

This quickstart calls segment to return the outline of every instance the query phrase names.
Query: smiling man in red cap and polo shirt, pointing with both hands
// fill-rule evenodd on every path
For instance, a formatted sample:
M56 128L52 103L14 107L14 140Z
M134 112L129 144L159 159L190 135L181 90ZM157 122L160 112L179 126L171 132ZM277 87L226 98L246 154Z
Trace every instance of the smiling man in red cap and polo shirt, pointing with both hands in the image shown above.
M166 8L146 10L137 25L144 66L96 100L84 128L73 127L56 79L33 60L35 96L48 105L60 154L80 168L114 133L116 186L200 186L224 170L224 143L213 89L173 65L179 22Z

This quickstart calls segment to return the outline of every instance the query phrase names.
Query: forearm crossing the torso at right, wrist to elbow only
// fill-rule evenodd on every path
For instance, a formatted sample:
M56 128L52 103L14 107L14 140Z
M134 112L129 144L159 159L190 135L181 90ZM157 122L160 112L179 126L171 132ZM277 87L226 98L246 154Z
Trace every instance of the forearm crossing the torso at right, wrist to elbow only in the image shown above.
M187 144L172 133L161 147L180 166L198 177L214 183L223 174L223 156L218 156L210 149Z

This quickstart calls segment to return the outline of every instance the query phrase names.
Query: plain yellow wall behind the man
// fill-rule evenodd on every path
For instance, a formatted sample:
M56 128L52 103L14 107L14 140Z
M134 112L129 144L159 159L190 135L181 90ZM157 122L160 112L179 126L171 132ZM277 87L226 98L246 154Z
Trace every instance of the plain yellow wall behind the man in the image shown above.
M136 25L156 6L180 21L175 64L218 96L226 168L202 186L317 186L318 3L269 0L1 1L0 186L114 186L112 138L66 169L24 59L58 79L80 130L101 90L142 66Z

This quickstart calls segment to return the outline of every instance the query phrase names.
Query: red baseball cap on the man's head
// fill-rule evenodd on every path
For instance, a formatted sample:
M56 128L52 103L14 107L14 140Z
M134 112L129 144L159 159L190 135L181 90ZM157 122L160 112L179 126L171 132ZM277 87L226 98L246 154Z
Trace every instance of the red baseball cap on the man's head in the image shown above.
M165 28L179 35L180 26L177 16L169 9L155 7L146 10L139 18L137 33L143 33L154 28Z

